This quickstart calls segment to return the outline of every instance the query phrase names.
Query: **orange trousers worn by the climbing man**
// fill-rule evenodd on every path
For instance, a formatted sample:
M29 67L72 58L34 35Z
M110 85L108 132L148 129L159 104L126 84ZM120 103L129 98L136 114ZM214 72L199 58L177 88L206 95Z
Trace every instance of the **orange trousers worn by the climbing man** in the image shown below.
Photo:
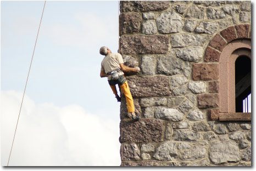
M116 87L115 86L110 86L110 87L113 90L114 94L118 93L116 91ZM133 105L133 99L132 99L131 92L130 92L130 89L129 89L127 81L124 84L122 84L120 86L120 88L121 88L122 92L125 95L128 112L134 112L135 110L134 110L134 105Z

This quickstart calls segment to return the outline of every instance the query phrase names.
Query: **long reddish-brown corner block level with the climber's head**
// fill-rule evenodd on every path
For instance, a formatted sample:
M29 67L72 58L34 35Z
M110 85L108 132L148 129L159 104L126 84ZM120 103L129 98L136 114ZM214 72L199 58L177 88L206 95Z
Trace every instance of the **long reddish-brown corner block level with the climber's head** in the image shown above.
M123 54L166 54L169 48L169 36L121 36L120 53Z

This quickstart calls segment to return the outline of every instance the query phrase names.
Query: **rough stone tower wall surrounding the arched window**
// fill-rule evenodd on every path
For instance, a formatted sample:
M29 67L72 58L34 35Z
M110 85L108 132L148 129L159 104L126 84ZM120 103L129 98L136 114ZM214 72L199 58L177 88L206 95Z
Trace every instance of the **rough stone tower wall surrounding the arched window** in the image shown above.
M121 166L251 166L251 122L214 118L229 42L220 32L251 37L251 1L120 1L120 12L119 52L141 68L126 78L142 117L127 117L123 97Z

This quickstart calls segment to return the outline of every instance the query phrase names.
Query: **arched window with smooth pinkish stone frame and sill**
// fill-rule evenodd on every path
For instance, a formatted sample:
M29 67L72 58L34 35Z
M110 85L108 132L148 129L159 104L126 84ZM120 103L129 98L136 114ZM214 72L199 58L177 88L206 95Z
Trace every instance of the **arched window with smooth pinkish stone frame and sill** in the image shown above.
M236 39L220 54L220 121L251 120L243 112L244 100L251 94L251 40ZM249 102L249 101L248 101Z

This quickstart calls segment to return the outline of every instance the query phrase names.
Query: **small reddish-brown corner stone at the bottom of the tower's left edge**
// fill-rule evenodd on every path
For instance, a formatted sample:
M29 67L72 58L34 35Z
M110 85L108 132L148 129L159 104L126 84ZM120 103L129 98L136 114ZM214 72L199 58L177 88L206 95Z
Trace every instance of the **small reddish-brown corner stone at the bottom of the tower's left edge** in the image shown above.
M135 144L121 144L120 149L121 161L129 161L129 160L140 160L141 152L140 148Z

